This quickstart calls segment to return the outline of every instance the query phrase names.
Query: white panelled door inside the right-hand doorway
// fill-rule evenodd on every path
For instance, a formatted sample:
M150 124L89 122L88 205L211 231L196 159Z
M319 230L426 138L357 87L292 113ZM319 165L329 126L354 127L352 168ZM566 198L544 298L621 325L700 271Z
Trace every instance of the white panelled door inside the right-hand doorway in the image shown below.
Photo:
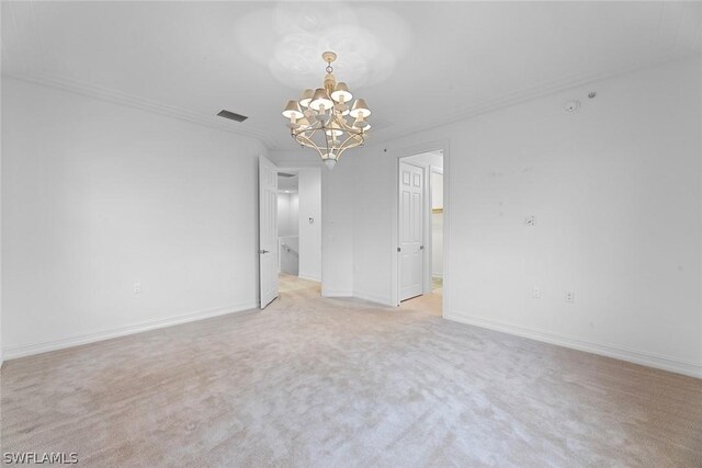
M424 169L399 163L399 300L423 294Z

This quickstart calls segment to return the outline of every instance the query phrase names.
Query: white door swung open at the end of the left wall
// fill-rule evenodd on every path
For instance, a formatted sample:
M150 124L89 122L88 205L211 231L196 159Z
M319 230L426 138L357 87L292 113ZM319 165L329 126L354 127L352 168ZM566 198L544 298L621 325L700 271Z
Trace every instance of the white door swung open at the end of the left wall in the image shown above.
M278 168L259 156L261 309L278 297Z

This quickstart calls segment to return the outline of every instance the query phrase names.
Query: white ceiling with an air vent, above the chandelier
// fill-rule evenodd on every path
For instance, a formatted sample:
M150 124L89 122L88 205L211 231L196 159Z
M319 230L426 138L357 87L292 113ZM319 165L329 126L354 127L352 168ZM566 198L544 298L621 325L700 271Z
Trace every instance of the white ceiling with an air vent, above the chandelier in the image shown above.
M2 2L2 72L286 149L282 106L320 85L326 48L376 140L702 50L700 2L294 5Z

